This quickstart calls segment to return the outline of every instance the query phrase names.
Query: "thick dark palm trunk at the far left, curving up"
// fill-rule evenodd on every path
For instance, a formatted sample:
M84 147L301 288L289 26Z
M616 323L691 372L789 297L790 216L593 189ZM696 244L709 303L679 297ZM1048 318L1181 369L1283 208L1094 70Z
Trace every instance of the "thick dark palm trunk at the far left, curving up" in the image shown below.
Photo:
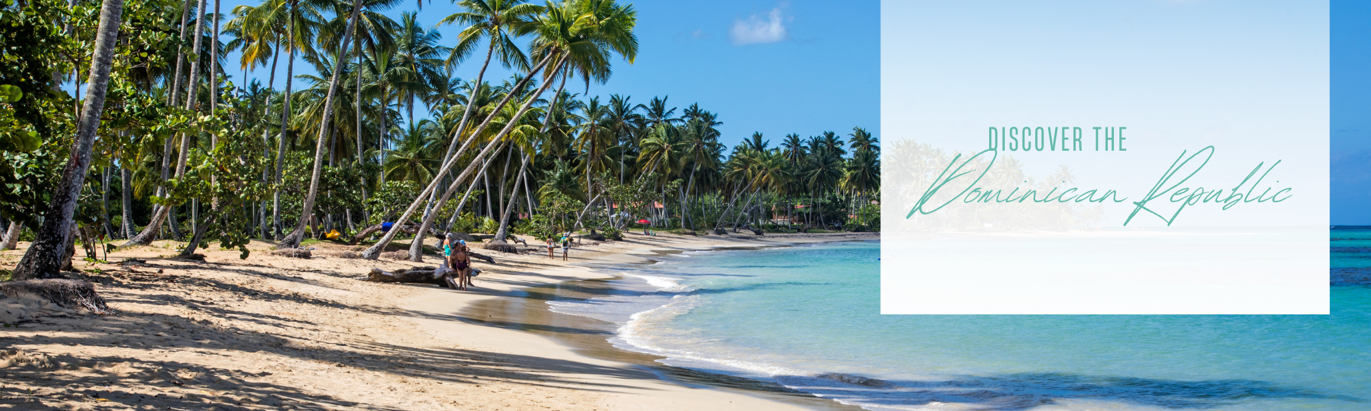
M123 0L104 0L100 5L100 27L95 38L95 59L90 62L90 77L86 81L85 104L81 110L81 123L75 144L62 173L62 182L52 196L52 204L43 218L43 227L33 244L15 267L12 279L53 278L62 269L66 245L71 237L73 221L81 186L90 167L90 149L95 145L96 129L100 127L100 114L104 111L104 96L110 85L110 68L114 63L114 41L119 37L119 19L123 14Z

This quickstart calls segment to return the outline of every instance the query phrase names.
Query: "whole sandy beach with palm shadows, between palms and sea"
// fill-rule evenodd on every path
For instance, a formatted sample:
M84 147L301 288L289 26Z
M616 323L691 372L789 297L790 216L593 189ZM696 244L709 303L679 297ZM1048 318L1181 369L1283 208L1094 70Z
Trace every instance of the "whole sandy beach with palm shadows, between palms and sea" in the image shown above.
M358 279L373 267L436 266L437 256L422 264L350 259L343 255L358 247L318 242L308 245L311 259L298 259L252 242L245 260L208 249L197 262L171 259L175 244L159 241L117 251L108 263L75 263L82 273L71 278L96 284L117 315L0 300L5 321L18 322L0 329L0 408L854 410L783 389L673 378L646 355L616 360L605 355L614 348L595 342L603 332L550 326L539 319L551 315L540 300L521 290L607 278L592 267L657 252L856 238L876 237L629 234L583 240L566 262L542 248L487 252L495 264L476 262L484 273L468 292ZM23 245L5 251L4 264L16 263ZM522 311L492 308L514 303Z

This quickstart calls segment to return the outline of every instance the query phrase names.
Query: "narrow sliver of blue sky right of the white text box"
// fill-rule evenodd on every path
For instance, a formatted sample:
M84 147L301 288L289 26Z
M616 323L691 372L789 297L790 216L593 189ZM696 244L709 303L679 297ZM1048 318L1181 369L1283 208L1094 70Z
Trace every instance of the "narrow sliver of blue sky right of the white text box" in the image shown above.
M1331 5L1328 219L1371 225L1371 4Z

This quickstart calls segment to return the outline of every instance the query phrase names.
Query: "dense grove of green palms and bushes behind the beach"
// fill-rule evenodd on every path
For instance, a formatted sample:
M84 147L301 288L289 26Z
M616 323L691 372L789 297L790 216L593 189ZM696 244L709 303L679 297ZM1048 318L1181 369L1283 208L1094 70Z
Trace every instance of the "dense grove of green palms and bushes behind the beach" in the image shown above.
M462 0L448 40L385 0L0 1L0 216L7 247L34 240L16 278L112 238L244 258L250 238L333 238L374 259L450 230L510 251L510 233L879 225L861 127L728 148L698 104L584 93L636 58L631 4Z

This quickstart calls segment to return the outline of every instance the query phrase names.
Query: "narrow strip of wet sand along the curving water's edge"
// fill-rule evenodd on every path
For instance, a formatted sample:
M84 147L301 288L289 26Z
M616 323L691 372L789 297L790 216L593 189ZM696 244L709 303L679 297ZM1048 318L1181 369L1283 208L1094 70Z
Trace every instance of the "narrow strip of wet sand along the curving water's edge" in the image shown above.
M599 269L624 269L631 267L632 264L648 264L655 262L655 259L653 259L655 255L670 255L691 251L761 249L794 247L798 244L864 241L872 238L879 238L879 233L860 233L856 236L854 233L798 234L786 237L773 236L773 238L736 238L718 236L707 236L703 238L696 237L694 238L695 241L690 241L695 244L690 244L687 247L670 248L658 245L635 248L618 255L602 255L600 259L594 262L588 260L563 269L553 269L547 273L555 273L557 275L548 278L561 277L557 281L528 284L522 288L506 289L503 293L463 299L462 301L444 304L447 306L446 308L428 308L435 306L437 300L444 299L443 293L435 289L410 300L406 308L425 311L433 315L450 315L455 316L454 319L459 322L502 330L480 333L477 336L433 332L433 336L437 338L459 344L505 342L503 347L506 348L521 347L524 349L537 351L543 358L606 366L617 364L618 367L631 367L642 371L643 374L632 377L628 374L596 377L609 379L616 377L629 378L628 381L614 379L614 384L621 385L621 389L611 393L603 403L603 406L614 410L699 410L699 407L710 407L710 410L857 411L862 408L846 406L831 399L817 397L769 381L696 371L658 363L658 359L665 358L614 347L609 341L609 337L614 336L613 329L617 325L574 314L557 312L553 311L553 307L546 301L554 299L554 293L558 293L558 289L561 288L569 286L584 292L585 288L580 284L603 284L611 279L624 278L622 275L603 273ZM705 241L705 244L699 244L701 240L714 241ZM574 252L576 249L573 248L573 253ZM603 285L602 289L613 288ZM487 315L487 318L477 318L478 315ZM531 316L535 319L529 321ZM515 318L521 322L511 321ZM443 321L444 319L433 319L429 325L437 325ZM420 322L429 322L429 319L420 319ZM592 329L596 325L599 327ZM424 323L421 323L421 327L426 330L435 329L432 326L424 326ZM503 332L509 332L511 334L503 336ZM547 344L517 341L521 338L514 334L535 336L536 338L544 340L543 342ZM511 342L513 345L510 345ZM664 384L668 386L661 386ZM642 390L655 392L644 393ZM684 397L686 395L688 395L688 399ZM666 401L664 401L664 397ZM684 400L677 400L677 397Z

